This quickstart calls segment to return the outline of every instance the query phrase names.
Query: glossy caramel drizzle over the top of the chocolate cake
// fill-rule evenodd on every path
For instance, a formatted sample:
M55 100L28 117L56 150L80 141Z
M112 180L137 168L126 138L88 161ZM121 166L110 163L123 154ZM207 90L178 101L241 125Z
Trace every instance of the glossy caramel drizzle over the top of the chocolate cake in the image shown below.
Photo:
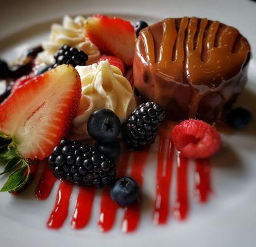
M154 81L162 77L190 86L193 95L189 117L194 118L198 102L206 93L219 91L241 72L249 61L249 43L236 28L217 21L184 17L165 19L161 24L159 37L153 26L141 31L145 51L140 52L145 52L146 59L143 63L148 65ZM157 98L161 85L153 86Z

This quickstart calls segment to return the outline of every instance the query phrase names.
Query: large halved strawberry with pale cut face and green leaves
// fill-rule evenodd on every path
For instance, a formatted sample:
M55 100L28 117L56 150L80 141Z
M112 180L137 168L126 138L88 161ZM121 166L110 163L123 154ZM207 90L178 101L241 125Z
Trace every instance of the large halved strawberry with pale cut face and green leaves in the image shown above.
M42 160L66 135L81 98L79 73L60 65L18 87L0 104L0 161L4 172L17 168L2 191L17 191L25 185L28 159Z

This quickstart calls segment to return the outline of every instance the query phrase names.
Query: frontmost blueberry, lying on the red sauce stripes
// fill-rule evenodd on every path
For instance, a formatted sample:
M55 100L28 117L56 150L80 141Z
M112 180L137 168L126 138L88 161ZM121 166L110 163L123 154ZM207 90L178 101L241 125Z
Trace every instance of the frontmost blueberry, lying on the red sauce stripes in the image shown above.
M117 178L110 191L111 198L120 206L135 203L140 197L138 183L130 177Z

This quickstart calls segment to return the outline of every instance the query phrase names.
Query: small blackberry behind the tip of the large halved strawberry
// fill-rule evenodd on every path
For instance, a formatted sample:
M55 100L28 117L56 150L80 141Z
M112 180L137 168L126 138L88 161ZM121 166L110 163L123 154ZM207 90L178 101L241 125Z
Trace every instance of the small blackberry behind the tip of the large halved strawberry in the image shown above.
M83 51L79 51L76 48L72 48L67 44L64 44L59 48L59 51L54 55L55 62L52 65L53 68L61 64L70 64L73 67L80 65L85 66L88 56Z

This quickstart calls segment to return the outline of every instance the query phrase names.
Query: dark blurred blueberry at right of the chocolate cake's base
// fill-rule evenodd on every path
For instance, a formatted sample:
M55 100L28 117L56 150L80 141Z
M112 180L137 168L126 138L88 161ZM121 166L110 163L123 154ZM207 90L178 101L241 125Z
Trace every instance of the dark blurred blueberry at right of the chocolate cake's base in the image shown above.
M238 130L245 128L247 124L252 120L252 114L242 107L237 107L228 112L226 115L226 121L229 125Z

